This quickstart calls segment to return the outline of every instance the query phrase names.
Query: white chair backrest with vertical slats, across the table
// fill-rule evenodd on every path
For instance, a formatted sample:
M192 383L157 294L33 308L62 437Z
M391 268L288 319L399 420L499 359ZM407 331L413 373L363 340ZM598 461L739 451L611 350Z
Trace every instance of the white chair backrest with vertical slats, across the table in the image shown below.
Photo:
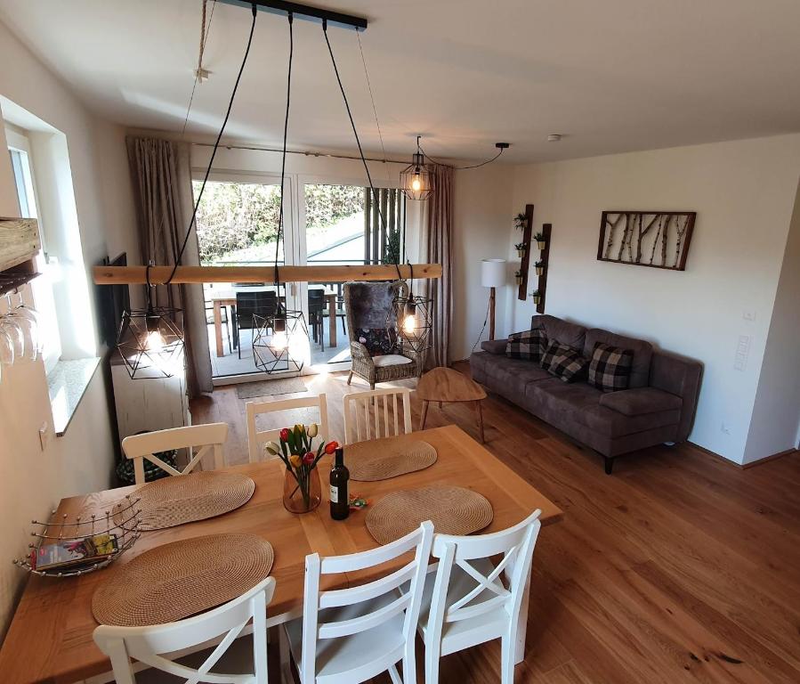
M403 403L402 432L400 432L398 396ZM382 403L383 411L381 410ZM344 444L363 442L379 437L408 435L411 430L411 390L408 387L389 387L344 395Z

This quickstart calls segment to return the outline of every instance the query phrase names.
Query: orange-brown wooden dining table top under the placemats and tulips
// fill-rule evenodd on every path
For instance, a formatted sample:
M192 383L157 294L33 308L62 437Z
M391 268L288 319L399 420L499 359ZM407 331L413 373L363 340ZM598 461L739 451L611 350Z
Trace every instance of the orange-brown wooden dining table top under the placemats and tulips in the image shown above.
M471 489L489 500L494 517L482 533L515 525L537 508L542 510L543 525L562 517L561 509L552 501L455 425L391 439L396 443L424 440L436 449L438 460L430 468L388 480L351 481L351 493L371 504L388 493L446 484ZM346 446L344 459L346 464ZM255 482L253 497L241 508L194 523L144 532L133 549L95 573L61 579L31 575L0 650L0 678L4 684L71 684L109 672L109 661L92 638L97 627L91 607L94 590L113 578L116 566L168 542L216 533L253 533L263 537L275 552L271 575L276 580L276 590L267 608L268 616L301 615L304 561L308 554L316 551L323 557L341 555L378 545L364 523L368 509L354 511L341 522L331 519L327 498L330 460L324 457L319 462L324 494L319 508L311 513L295 515L284 509L285 467L279 459L233 466L225 469L244 473ZM106 510L110 503L134 489L122 487L70 497L61 501L59 513ZM385 566L381 572L386 572ZM322 589L352 586L369 578L366 573L326 575Z

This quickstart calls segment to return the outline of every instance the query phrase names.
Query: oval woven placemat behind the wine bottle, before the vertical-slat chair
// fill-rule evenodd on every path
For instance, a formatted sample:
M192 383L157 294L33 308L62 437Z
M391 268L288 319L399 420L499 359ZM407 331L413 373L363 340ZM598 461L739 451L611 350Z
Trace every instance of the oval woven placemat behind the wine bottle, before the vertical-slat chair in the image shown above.
M381 440L357 442L344 447L350 479L359 482L388 480L390 477L429 468L436 462L436 450L427 442L395 444Z

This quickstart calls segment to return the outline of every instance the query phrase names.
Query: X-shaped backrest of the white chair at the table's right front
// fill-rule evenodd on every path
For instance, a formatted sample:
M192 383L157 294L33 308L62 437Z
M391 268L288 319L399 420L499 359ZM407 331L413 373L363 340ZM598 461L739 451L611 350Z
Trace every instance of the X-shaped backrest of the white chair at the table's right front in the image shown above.
M528 581L533 549L542 526L538 519L541 512L536 509L519 525L509 527L502 532L468 537L435 535L432 557L439 558L439 567L433 585L431 613L428 619L428 628L433 630L432 639L440 639L444 623L489 613L497 615L498 610L505 611L510 621L515 622L519 619L522 594ZM500 554L503 554L503 558L488 576L470 564L471 560ZM448 584L454 565L470 575L475 581L475 586L464 597L448 606ZM497 585L497 579L500 580L502 588ZM484 597L474 602L484 592L489 594L489 598Z

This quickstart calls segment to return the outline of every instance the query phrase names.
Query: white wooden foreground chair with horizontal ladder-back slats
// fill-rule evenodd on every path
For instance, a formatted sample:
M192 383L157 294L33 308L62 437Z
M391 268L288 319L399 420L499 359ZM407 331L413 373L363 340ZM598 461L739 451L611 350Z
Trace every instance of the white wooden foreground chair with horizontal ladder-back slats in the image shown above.
M433 524L374 550L305 558L303 619L284 625L281 657L294 657L302 684L357 684L388 671L393 684L416 684L415 629L431 552ZM415 551L399 570L352 589L319 590L323 574L379 566ZM398 588L408 582L408 590ZM403 679L397 663L403 663Z

